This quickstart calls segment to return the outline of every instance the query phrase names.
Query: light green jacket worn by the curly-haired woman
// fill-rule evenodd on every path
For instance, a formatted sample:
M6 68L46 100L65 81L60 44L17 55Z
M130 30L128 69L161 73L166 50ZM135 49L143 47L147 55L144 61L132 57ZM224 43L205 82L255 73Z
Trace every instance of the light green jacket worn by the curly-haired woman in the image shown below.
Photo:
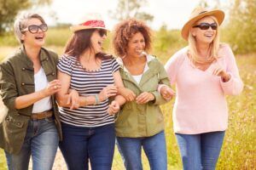
M154 94L154 101L144 105L138 105L136 101L126 102L122 106L115 122L115 131L118 137L149 137L160 133L164 129L164 117L160 111L160 105L166 103L157 91L158 84L170 86L164 66L158 59L148 55L148 71L143 73L139 84L125 70L121 59L120 75L125 88L131 89L137 96L143 92Z

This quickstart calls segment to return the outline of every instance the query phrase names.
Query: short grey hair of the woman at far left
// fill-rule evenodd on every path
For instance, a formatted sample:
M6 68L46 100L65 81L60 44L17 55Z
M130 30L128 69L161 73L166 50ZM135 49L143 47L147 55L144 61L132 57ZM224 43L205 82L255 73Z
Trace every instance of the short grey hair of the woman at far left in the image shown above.
M18 39L19 42L23 43L24 41L20 38L22 37L22 34L24 34L24 29L27 27L27 20L30 19L38 19L43 24L45 24L45 21L42 16L35 13L20 13L17 15L15 19L14 29L15 29L15 36Z

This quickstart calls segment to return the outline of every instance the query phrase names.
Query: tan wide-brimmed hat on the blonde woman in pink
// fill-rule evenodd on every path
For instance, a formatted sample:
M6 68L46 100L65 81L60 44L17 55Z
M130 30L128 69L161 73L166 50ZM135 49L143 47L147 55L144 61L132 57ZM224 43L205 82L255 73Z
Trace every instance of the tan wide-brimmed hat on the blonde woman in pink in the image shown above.
M214 16L218 20L218 26L220 26L224 20L224 15L224 11L219 9L207 10L206 8L201 7L195 8L190 14L189 20L183 26L181 35L187 41L189 37L189 29L191 26L193 26L197 20L200 20L205 16Z

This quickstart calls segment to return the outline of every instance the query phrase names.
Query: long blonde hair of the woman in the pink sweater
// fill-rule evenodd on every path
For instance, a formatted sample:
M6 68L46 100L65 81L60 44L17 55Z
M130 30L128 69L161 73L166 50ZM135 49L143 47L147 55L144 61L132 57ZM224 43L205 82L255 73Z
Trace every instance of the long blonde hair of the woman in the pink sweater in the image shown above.
M212 61L218 59L218 48L219 48L219 29L218 29L218 20L214 16L207 16L211 17L212 20L217 24L217 30L215 37L213 41L210 44L210 53L207 59L201 59L199 57L199 54L197 52L196 46L195 46L195 37L192 35L191 31L189 31L189 55L190 59L192 60L193 63L212 63ZM195 22L196 23L196 22ZM195 24L194 24L195 25Z

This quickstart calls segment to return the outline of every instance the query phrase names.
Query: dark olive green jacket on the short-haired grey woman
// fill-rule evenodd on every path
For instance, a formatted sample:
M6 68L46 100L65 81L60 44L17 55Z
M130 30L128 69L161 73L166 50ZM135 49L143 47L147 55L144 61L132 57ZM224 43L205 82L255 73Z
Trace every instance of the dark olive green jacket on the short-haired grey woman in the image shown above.
M40 60L48 81L56 79L58 55L41 48ZM27 57L24 47L21 47L0 65L0 89L3 103L9 109L7 116L0 123L0 147L9 153L19 153L32 114L32 105L16 110L15 99L18 96L35 92L33 64L31 59ZM55 124L59 137L62 139L61 122L55 96L51 96L51 101Z

